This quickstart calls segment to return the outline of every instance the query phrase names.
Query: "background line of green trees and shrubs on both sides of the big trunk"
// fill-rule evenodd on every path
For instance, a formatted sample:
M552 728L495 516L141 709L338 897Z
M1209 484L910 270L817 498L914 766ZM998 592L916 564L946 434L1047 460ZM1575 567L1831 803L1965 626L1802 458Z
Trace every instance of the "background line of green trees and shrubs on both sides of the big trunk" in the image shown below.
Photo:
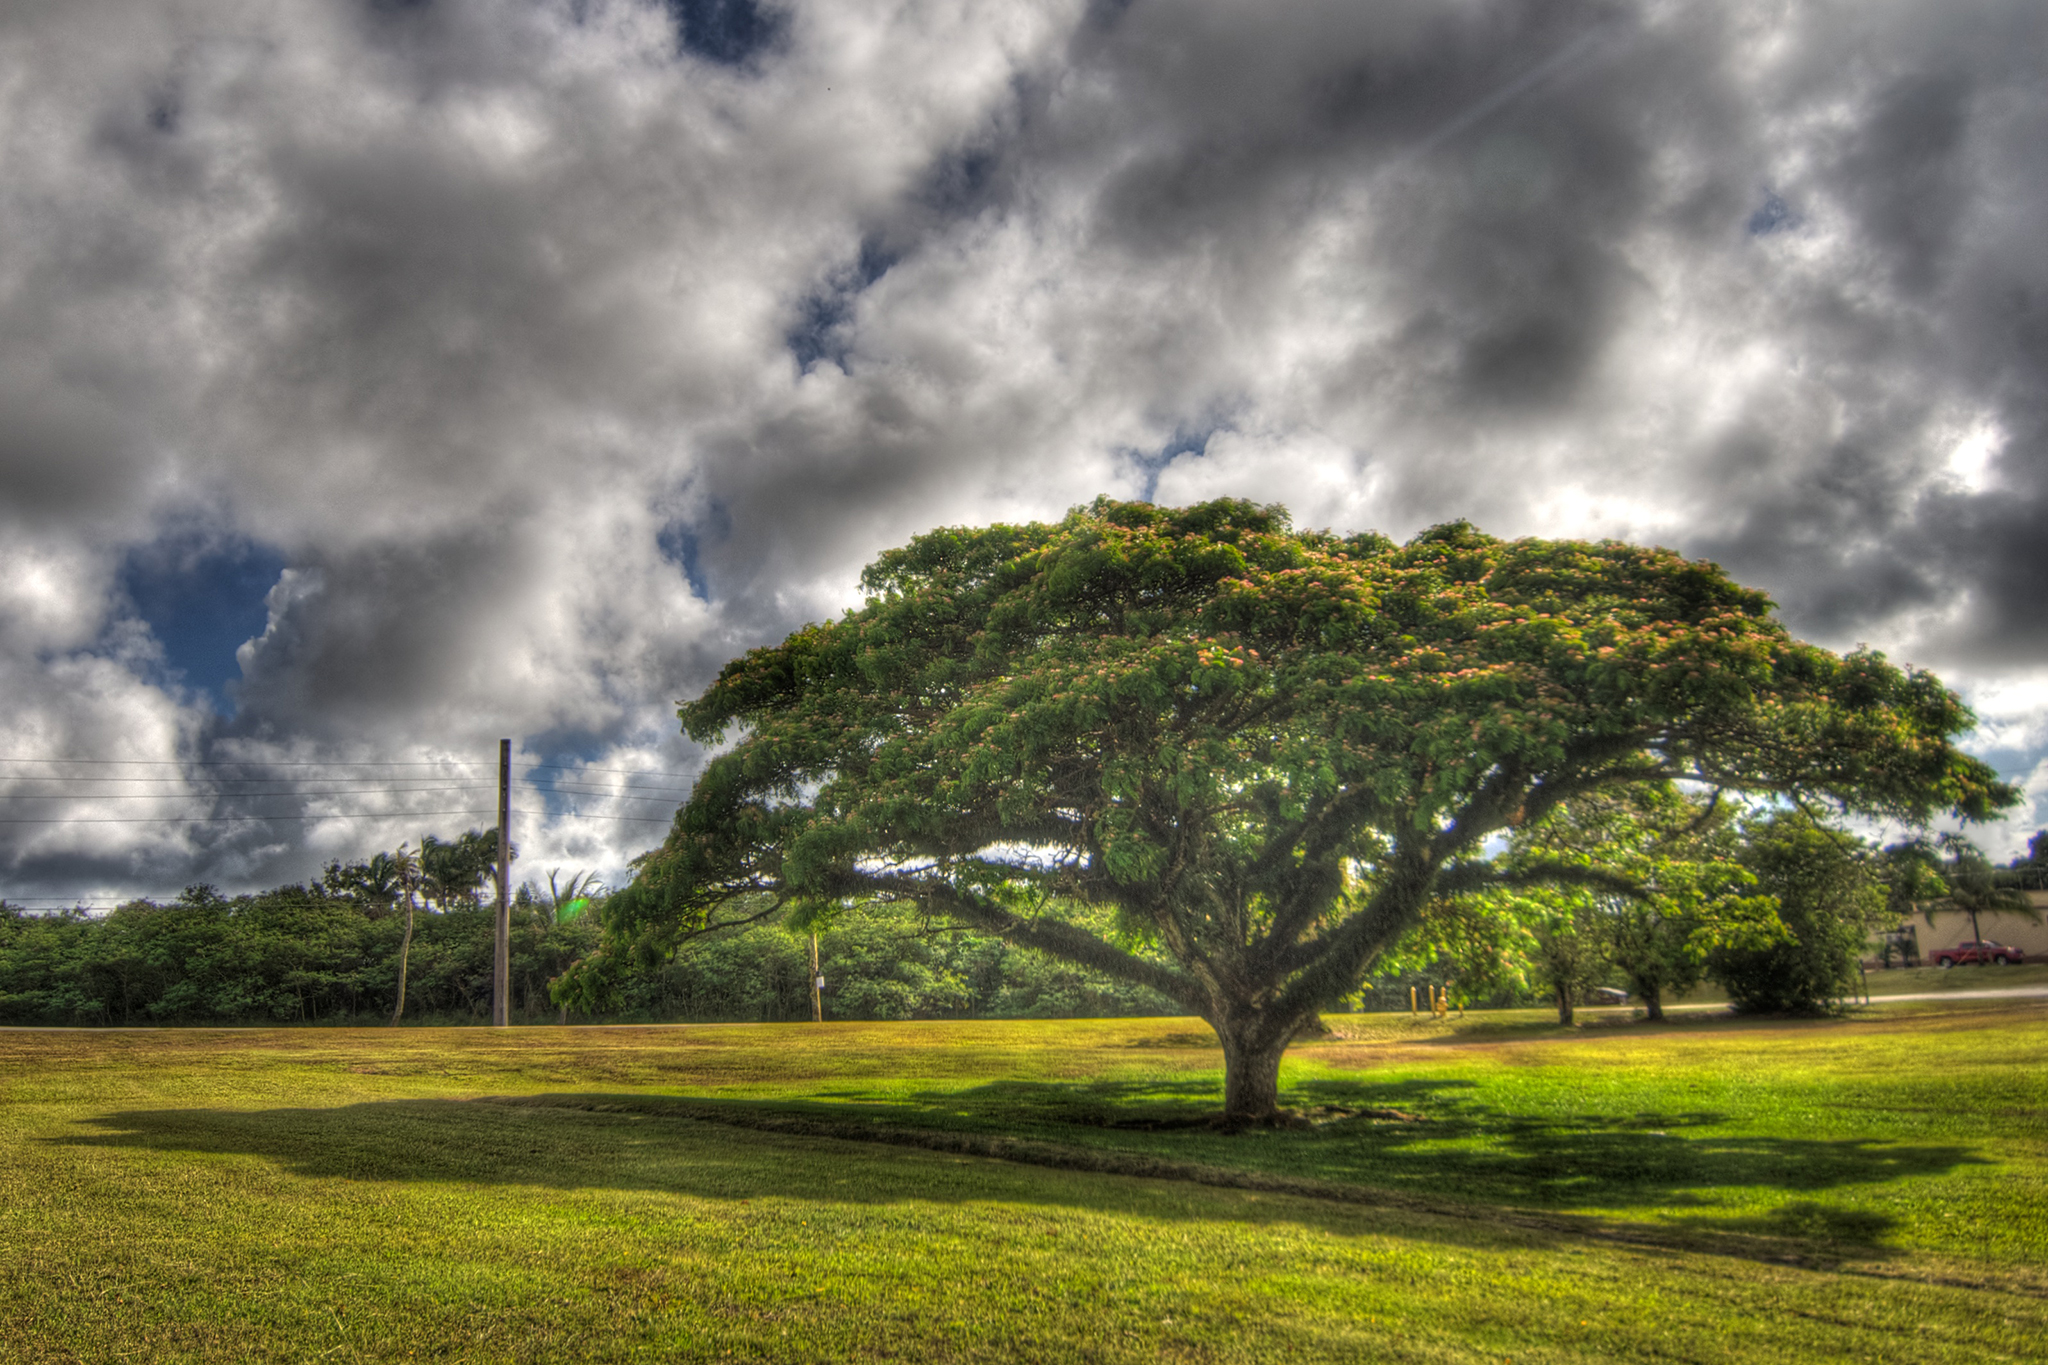
M35 915L0 902L0 1021L481 1023L489 1017L496 835L412 853L420 913L406 948L406 851L338 862L311 884L133 900L109 915ZM1599 986L1651 1015L1718 982L1737 1009L1825 1011L1853 995L1858 962L1909 917L2021 909L2048 868L2048 833L1995 868L1960 839L1874 847L1798 810L1737 810L1675 790L1577 802L1499 853L1520 890L1452 896L1376 964L1362 1009L1407 1009L1440 986L1473 1007L1554 1005L1569 1021ZM1556 862L1610 882L1536 886ZM770 915L674 954L606 952L604 892L549 876L512 896L512 1009L528 1023L807 1019L819 933L834 1019L1171 1015L1143 986L901 909L850 905L807 921ZM1102 931L1112 931L1108 915ZM1143 952L1143 945L1135 945Z

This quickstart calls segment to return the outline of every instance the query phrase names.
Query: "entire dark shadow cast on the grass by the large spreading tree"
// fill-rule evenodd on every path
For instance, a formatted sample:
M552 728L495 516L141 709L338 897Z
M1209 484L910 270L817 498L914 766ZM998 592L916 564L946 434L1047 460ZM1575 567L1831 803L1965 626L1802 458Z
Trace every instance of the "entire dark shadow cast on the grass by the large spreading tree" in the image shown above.
M846 1091L836 1101L633 1093L156 1109L111 1113L94 1119L98 1134L51 1142L260 1156L315 1179L639 1189L711 1199L795 1191L860 1203L1018 1199L1161 1218L1397 1230L1460 1244L1620 1236L1774 1261L1786 1250L1870 1254L1894 1224L1815 1197L1761 1216L1688 1218L1663 1228L1616 1224L1593 1212L1708 1214L1731 1189L1823 1195L1987 1164L1960 1146L1731 1136L1718 1132L1720 1115L1704 1111L1501 1113L1477 1103L1473 1089L1462 1081L1303 1083L1290 1099L1333 1117L1311 1130L1237 1136L1186 1124L1214 1111L1210 1083L1098 1081L997 1083L887 1099ZM1430 1117L1370 1117L1405 1109ZM1014 1164L1006 1171L963 1156ZM858 1169L852 1183L850 1169ZM1118 1175L1153 1179L1096 1179ZM1169 1183L1219 1189L1198 1201L1145 1193ZM1753 1195L1739 1201L1755 1205Z

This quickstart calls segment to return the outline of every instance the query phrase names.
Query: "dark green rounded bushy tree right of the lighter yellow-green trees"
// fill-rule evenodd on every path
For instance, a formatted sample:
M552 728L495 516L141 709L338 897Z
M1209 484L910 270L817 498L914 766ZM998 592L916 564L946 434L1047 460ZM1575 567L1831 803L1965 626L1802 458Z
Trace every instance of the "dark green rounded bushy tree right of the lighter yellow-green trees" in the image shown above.
M1778 810L1745 825L1741 855L1757 890L1778 902L1784 933L1769 943L1714 948L1708 972L1745 1013L1839 1009L1858 988L1870 931L1890 923L1868 845L1802 810Z

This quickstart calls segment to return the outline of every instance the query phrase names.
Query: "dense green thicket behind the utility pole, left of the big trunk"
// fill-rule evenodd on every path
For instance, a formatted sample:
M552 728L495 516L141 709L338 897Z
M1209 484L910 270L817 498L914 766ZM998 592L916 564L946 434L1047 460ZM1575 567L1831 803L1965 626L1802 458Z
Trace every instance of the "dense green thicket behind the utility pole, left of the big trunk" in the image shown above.
M522 896L512 921L516 1021L748 1021L811 1017L809 943L776 925L686 945L614 972L602 1015L571 1015L549 984L598 948L594 915L567 923ZM322 886L248 896L193 888L111 915L0 905L0 1021L57 1025L379 1023L397 1007L406 915ZM489 1017L492 911L420 911L406 954L408 1023ZM1180 1013L1110 980L977 933L848 911L819 933L834 1019L1102 1017Z

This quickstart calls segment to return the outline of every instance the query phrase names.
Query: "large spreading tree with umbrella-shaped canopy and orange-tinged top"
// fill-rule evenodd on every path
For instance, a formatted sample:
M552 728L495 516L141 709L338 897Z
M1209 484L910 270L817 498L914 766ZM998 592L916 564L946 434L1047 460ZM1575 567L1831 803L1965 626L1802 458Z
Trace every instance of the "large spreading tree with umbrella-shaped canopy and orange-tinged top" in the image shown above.
M862 581L682 706L737 743L612 896L614 943L913 905L1186 1005L1233 1121L1276 1113L1288 1040L1432 896L1511 876L1489 835L1575 796L1683 780L1911 823L2015 798L1931 675L1802 645L1669 551L1102 499L936 530Z

